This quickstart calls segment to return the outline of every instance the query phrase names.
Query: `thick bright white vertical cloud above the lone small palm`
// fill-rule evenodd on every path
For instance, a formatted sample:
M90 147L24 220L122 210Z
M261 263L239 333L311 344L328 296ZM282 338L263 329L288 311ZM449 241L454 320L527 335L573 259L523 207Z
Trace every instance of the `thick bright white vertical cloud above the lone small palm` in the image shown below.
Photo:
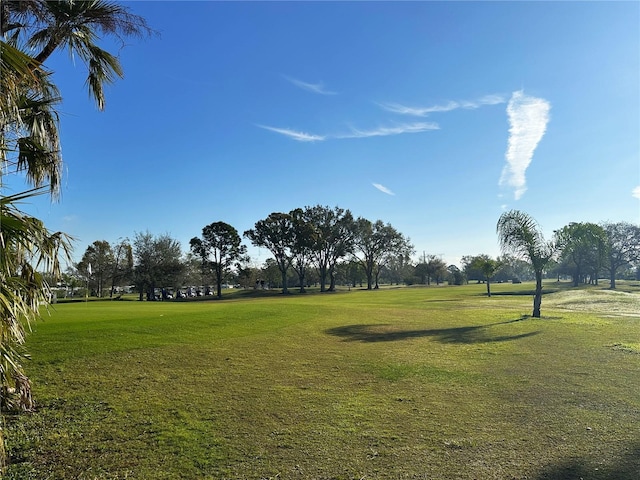
M525 172L547 130L550 108L551 104L545 99L527 96L523 91L513 92L507 105L507 164L502 169L499 184L513 188L516 200L527 190Z

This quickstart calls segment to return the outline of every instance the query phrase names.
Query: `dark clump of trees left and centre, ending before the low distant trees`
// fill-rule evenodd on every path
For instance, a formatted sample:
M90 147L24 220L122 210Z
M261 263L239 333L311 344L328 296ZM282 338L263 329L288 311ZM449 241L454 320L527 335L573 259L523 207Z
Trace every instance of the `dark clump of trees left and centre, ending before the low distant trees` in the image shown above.
M242 237L271 257L255 265ZM376 289L385 269L408 264L413 253L409 238L389 223L321 205L271 213L242 237L232 225L218 221L190 240L186 254L168 234L136 233L133 241L115 246L98 240L63 280L66 286L86 283L97 296L113 296L116 287L131 283L141 300L154 300L159 288L177 291L187 285L213 285L220 297L224 283L249 287L265 279L283 293L292 284L300 292L312 284L322 292L334 291L337 281L346 278L354 285L364 279L368 289Z

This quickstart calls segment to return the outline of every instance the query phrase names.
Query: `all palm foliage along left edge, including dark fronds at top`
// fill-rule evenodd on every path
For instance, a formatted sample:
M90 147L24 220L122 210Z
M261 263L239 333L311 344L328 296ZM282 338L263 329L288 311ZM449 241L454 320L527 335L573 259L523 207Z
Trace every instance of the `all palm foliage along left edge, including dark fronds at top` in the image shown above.
M111 2L0 3L0 407L12 402L32 407L30 382L21 366L25 328L50 301L45 277L60 274L59 254L69 258L70 250L67 235L50 232L17 208L34 195L56 198L59 192L60 95L43 62L59 47L67 47L87 65L89 92L102 110L103 85L122 77L122 68L96 40L104 34L122 40L143 33L150 29L141 17ZM40 51L31 56L29 48ZM16 174L23 174L33 188L2 195L3 176ZM5 465L0 419L0 475Z

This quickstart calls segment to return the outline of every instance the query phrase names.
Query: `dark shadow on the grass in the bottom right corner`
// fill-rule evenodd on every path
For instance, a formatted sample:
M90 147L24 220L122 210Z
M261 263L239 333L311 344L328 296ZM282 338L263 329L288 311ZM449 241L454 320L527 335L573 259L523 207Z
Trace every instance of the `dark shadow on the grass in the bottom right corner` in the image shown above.
M588 458L571 458L548 465L535 480L638 480L640 478L640 442L607 465Z

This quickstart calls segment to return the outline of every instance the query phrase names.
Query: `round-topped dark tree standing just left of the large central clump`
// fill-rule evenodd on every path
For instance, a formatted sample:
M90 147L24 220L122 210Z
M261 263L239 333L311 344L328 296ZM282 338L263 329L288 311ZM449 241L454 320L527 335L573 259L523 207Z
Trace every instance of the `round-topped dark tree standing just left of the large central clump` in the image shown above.
M191 251L215 276L218 298L222 297L222 281L247 253L238 231L225 222L213 222L202 229L202 237L190 240Z

